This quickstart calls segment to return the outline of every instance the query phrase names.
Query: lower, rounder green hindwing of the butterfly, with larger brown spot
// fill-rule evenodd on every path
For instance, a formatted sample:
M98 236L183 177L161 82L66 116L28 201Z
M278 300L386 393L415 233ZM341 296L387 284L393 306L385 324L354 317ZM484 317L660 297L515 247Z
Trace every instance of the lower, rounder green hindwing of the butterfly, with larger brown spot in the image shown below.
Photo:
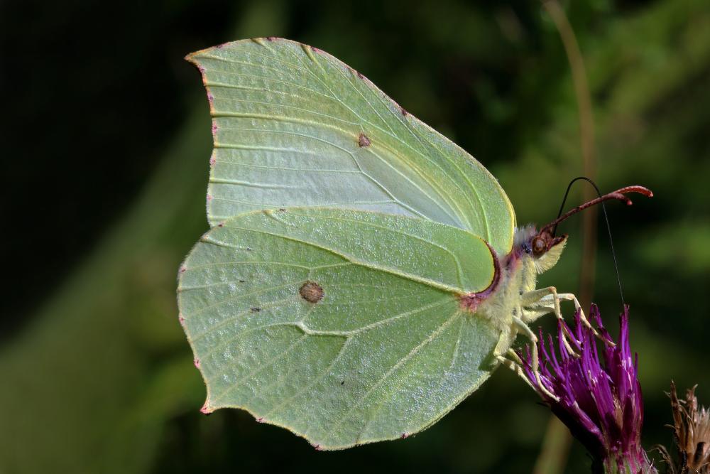
M204 411L247 409L337 449L430 426L490 374L499 331L461 309L493 257L401 215L289 208L233 217L180 269Z

